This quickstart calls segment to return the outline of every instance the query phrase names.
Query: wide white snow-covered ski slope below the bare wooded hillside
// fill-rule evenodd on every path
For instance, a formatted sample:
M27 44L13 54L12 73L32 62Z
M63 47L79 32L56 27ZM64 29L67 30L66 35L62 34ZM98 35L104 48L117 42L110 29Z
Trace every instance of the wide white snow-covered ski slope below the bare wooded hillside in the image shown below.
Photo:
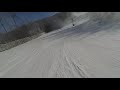
M0 52L0 77L120 77L120 22L115 18L109 22L79 21L75 27Z

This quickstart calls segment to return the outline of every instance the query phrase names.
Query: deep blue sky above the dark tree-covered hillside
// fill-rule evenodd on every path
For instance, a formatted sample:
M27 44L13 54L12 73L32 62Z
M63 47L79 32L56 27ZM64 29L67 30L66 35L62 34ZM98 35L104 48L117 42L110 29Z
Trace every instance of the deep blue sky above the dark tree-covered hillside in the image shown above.
M14 22L10 18L10 16L14 13L16 13L16 15L20 18L20 19L19 18L15 19L16 23L18 25L22 25L22 24L27 23L29 21L35 21L35 20L39 20L39 19L43 19L43 18L52 16L56 12L0 12L0 18L3 18L0 21L3 23L3 25L5 26L5 28L8 31L10 31L12 28L14 28L13 27ZM0 24L0 33L5 33L5 30L1 24Z

